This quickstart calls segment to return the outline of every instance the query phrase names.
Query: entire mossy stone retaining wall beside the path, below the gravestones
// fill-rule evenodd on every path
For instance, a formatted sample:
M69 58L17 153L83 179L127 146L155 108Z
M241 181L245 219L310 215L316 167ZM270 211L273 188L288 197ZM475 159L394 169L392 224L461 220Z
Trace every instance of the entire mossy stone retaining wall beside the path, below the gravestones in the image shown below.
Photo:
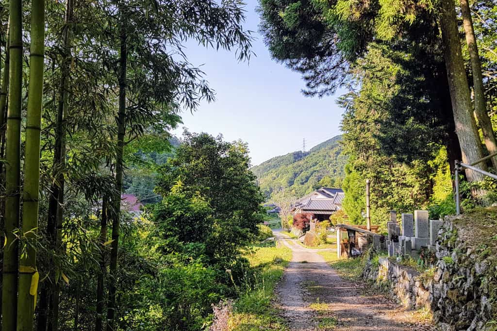
M445 218L437 262L419 273L393 258L371 254L369 284L409 309L426 307L442 331L497 331L497 209Z

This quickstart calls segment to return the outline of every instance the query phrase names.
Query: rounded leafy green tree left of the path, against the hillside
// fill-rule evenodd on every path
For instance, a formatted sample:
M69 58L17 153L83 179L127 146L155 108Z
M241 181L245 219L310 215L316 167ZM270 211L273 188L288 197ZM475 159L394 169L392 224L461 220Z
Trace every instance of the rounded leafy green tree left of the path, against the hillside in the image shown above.
M186 197L206 199L212 209L210 226L215 229L206 255L228 269L236 267L233 263L240 249L257 233L256 224L263 219L263 198L249 164L247 145L185 132L176 156L160 169L158 177L156 190L165 199L178 183Z

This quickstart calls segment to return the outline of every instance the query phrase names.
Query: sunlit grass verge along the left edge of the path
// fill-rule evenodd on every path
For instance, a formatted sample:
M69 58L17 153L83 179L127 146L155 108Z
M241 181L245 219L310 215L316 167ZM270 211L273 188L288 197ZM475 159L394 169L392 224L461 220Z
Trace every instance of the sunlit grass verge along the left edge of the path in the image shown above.
M250 267L256 271L255 283L248 284L234 304L229 321L230 331L288 330L277 311L271 307L274 286L283 276L283 270L292 258L285 246L255 247L247 255Z

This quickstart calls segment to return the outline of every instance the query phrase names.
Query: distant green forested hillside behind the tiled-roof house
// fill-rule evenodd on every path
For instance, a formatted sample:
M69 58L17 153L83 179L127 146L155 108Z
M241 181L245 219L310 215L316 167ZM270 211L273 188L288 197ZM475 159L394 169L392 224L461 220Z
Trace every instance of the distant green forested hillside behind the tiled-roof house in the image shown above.
M340 187L347 158L341 155L341 136L336 136L309 152L293 152L269 159L252 167L260 176L264 194L276 197L286 194L302 196L321 186Z

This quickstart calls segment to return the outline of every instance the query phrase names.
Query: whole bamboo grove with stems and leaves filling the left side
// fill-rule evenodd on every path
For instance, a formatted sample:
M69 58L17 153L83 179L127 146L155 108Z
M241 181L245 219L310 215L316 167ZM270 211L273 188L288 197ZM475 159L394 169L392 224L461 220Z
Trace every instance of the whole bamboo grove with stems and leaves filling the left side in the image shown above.
M231 0L1 2L1 330L145 325L123 317L140 276L126 282L140 259L120 253L136 230L125 172L214 99L184 43L248 60L244 18Z

